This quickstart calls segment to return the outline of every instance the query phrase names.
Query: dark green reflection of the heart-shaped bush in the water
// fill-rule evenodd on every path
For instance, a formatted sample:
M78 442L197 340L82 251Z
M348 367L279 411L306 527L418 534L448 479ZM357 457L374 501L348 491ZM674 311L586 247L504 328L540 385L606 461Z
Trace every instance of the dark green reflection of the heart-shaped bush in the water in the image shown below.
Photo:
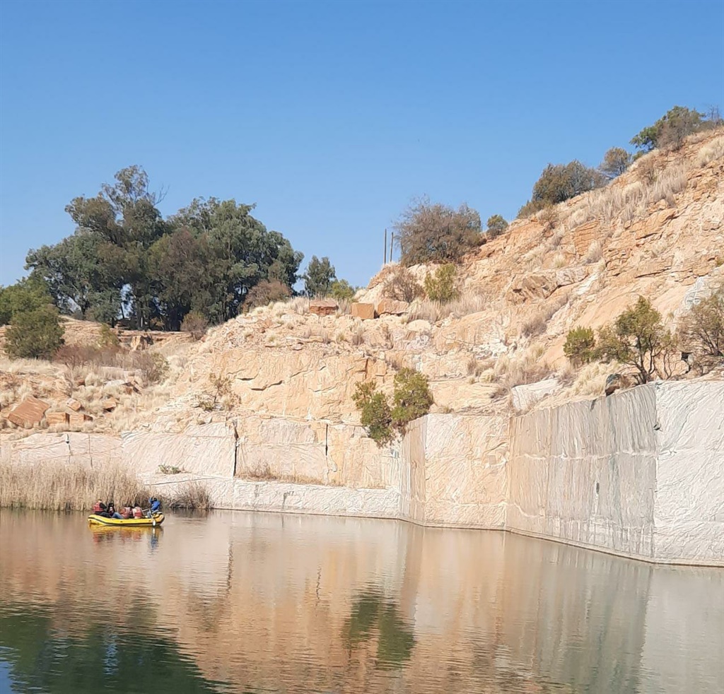
M353 601L342 636L350 651L376 636L379 669L402 667L415 647L413 632L406 627L395 602L375 589Z

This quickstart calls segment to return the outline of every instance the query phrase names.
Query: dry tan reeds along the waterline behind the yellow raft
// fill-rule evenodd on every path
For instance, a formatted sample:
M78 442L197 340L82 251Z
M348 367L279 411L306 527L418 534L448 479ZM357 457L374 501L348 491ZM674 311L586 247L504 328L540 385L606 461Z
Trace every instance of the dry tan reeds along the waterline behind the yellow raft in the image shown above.
M117 507L137 503L146 507L151 496L158 496L166 508L211 508L206 488L198 483L182 483L161 495L118 465L0 465L0 507L87 511L98 499L112 501Z

